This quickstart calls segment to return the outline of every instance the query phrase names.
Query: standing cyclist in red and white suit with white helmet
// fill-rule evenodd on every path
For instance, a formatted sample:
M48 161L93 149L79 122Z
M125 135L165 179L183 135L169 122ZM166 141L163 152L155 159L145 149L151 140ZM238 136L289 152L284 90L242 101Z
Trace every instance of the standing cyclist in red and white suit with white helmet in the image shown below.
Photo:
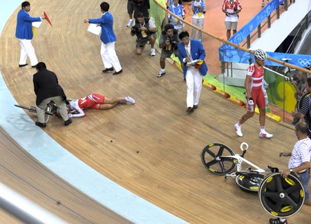
M259 123L261 125L261 132L259 136L261 138L272 138L273 134L269 134L265 131L265 96L263 95L263 90L261 86L263 85L263 65L265 65L265 59L267 59L267 54L265 51L258 49L254 52L255 63L249 65L247 70L247 76L245 79L245 90L247 98L247 112L244 114L240 121L234 125L234 130L236 134L240 137L243 136L241 131L242 124L247 121L247 119L254 116L254 109L258 105L259 109Z

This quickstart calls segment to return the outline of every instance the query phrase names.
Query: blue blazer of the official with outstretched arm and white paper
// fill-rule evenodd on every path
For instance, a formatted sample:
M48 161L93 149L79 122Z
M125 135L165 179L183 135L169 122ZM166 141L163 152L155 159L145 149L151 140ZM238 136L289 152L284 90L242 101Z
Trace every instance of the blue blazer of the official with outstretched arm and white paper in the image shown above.
M100 19L89 19L90 23L99 23L102 27L102 34L100 34L100 40L103 43L114 42L117 40L115 33L113 32L113 16L110 12L102 14Z

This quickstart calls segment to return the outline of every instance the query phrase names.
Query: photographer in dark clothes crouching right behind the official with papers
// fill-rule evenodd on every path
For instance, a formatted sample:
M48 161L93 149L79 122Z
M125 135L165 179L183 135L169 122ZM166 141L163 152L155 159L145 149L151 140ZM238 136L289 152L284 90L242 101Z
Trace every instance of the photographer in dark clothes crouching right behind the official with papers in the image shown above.
M178 48L177 45L180 42L178 39L178 32L174 29L172 24L167 24L164 26L164 30L162 31L159 47L161 50L160 56L160 67L161 70L158 73L158 77L164 76L165 72L165 59L170 58L171 54L175 54L178 56Z

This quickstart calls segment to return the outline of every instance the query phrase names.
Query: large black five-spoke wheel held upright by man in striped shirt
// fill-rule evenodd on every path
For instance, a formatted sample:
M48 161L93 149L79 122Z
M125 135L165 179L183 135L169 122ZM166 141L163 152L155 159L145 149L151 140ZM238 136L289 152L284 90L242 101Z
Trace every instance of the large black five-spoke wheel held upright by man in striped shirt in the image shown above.
M290 174L284 179L281 173L272 173L261 182L258 196L261 205L269 214L286 218L299 212L305 192L296 176Z

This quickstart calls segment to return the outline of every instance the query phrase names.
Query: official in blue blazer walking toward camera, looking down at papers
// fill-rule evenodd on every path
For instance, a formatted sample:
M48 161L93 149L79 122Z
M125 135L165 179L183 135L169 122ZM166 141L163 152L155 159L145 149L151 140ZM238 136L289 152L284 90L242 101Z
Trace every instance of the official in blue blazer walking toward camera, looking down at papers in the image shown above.
M208 68L204 61L205 50L200 41L189 39L187 31L179 34L182 41L178 44L178 58L183 64L184 78L187 83L187 113L198 108L202 89L202 76L207 74Z

